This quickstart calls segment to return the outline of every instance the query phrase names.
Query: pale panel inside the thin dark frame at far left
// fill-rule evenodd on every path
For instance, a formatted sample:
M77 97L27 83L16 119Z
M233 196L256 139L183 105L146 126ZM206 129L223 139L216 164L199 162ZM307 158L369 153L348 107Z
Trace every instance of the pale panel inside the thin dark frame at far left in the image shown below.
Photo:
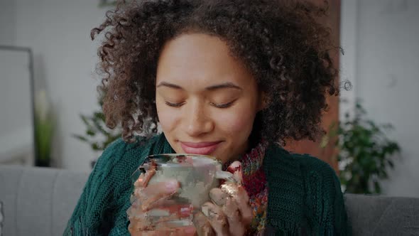
M33 113L27 51L0 49L0 163L33 163Z

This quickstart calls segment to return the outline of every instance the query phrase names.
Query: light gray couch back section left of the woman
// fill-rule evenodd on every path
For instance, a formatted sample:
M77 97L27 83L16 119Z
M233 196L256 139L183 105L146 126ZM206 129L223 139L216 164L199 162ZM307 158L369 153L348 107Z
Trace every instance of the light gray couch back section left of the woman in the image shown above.
M88 173L0 166L4 235L62 235Z

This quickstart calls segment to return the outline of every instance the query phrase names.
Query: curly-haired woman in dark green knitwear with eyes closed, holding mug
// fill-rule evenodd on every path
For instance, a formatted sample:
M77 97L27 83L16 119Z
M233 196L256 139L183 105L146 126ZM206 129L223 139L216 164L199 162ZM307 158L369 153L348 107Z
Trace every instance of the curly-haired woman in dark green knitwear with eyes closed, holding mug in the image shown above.
M104 33L107 125L124 130L99 158L65 235L349 235L332 168L281 148L315 139L325 97L338 92L321 12L266 0L148 0L109 11L92 38ZM131 173L161 153L215 156L240 181L229 183L232 193L214 188L193 228L128 218L180 187L141 176L133 189ZM141 206L131 206L133 192Z

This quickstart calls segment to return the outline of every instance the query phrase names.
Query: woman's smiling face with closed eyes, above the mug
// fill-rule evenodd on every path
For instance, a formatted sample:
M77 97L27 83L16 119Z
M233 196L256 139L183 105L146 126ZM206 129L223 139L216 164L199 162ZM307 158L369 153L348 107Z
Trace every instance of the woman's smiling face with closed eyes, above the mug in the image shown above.
M190 33L163 47L156 106L176 153L211 155L225 163L248 148L261 96L254 77L224 41Z

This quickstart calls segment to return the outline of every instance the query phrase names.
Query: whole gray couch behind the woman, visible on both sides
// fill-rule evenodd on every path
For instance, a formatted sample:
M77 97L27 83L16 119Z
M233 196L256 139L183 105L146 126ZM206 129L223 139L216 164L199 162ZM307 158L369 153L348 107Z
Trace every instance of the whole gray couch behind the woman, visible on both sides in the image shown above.
M4 236L62 235L88 173L0 166ZM419 235L419 198L345 195L354 235Z

